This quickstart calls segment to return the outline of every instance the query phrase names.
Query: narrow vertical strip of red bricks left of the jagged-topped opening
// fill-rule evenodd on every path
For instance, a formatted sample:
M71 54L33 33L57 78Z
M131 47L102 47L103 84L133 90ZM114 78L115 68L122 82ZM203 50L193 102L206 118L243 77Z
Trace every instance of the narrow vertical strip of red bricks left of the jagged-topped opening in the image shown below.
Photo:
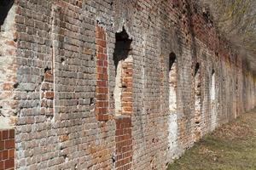
M108 55L106 32L96 26L96 117L108 121Z

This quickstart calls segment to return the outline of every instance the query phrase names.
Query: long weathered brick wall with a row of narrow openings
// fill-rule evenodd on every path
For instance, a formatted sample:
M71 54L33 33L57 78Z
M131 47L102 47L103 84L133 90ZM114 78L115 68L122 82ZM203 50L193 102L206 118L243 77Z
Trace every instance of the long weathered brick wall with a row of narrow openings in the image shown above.
M15 86L0 103L15 103L0 111L16 120L15 168L165 169L252 109L255 77L193 2L15 1L14 42L0 40L1 54L14 44L0 86ZM123 31L129 47L116 66Z

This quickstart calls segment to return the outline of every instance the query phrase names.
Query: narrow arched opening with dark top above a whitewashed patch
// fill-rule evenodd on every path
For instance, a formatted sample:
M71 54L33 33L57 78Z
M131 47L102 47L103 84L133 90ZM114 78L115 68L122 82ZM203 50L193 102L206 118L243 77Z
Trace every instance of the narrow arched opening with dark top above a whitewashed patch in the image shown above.
M169 55L169 109L177 110L176 89L177 88L177 59L174 53Z

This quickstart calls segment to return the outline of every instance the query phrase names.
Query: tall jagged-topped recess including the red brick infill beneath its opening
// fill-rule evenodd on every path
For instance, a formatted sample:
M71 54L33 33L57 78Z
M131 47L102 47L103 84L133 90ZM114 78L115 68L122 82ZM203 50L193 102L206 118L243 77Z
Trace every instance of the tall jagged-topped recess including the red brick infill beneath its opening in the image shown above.
M115 67L115 86L113 89L115 111L115 168L131 169L132 160L132 56L131 39L125 28L115 34L116 42L113 53ZM125 138L124 138L125 136ZM126 160L126 161L124 161Z

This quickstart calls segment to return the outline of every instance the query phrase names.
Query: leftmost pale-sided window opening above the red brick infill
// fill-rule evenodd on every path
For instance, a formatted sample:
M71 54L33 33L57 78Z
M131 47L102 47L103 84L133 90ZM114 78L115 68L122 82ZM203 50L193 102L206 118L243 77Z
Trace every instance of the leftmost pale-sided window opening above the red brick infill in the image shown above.
M0 131L15 127L18 103L15 99L17 82L16 5L14 0L0 1Z

